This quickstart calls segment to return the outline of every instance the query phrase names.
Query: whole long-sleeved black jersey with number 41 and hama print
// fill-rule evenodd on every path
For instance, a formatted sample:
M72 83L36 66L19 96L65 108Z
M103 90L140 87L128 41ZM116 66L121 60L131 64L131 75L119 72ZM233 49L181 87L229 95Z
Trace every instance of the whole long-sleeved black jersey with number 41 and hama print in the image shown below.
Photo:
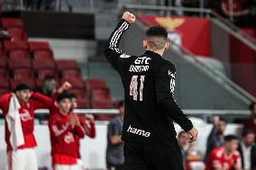
M176 141L172 121L185 131L193 125L173 99L176 70L159 54L147 50L142 56L129 56L118 49L129 22L121 20L108 40L105 57L122 78L125 113L123 140L147 142Z

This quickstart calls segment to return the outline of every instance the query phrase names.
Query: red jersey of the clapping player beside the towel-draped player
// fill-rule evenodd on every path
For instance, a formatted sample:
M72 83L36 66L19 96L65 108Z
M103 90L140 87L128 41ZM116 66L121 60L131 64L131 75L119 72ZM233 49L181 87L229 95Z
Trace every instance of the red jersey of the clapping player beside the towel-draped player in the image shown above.
M69 124L70 114L64 116L59 112L55 112L51 113L51 115L49 129L53 164L65 164L65 161L56 162L58 159L54 160L55 157L59 156L73 157L73 159L77 159L76 140L85 137L85 130L81 126L71 127ZM69 163L67 162L67 164Z

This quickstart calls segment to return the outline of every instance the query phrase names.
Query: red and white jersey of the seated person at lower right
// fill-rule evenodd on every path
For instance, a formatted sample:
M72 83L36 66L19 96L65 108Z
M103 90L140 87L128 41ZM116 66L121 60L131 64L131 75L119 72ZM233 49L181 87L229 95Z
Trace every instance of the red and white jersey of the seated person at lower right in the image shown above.
M230 156L226 156L224 147L215 148L206 159L206 170L214 170L214 167L232 170L234 166L242 166L239 152L234 151Z

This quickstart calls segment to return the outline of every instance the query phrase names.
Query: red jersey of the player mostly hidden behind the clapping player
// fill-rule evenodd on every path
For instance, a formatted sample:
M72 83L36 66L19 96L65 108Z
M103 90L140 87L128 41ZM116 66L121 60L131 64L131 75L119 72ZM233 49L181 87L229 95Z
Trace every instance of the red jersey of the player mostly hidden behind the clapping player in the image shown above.
M95 122L90 122L90 125L87 125L87 122L85 121L83 116L79 116L79 121L82 125L82 127L84 128L84 130L86 131L86 134L88 137L94 139L96 137L96 125ZM81 158L81 154L80 154L80 139L76 139L76 143L77 143L77 156L78 158Z

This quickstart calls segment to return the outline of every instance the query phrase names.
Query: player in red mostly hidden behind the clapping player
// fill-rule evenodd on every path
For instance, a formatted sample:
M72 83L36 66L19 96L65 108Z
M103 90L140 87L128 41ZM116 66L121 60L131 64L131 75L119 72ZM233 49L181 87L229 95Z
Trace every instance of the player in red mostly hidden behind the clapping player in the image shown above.
M77 95L76 94L70 94L70 95L71 95L71 102L72 102L72 110L77 109L78 108ZM87 137L91 139L95 139L96 123L95 123L94 116L92 114L86 114L85 116L78 115L78 118L81 123L81 126L84 128L87 134ZM77 153L78 153L78 169L86 170L80 154L80 138L76 138L76 142L77 142Z

